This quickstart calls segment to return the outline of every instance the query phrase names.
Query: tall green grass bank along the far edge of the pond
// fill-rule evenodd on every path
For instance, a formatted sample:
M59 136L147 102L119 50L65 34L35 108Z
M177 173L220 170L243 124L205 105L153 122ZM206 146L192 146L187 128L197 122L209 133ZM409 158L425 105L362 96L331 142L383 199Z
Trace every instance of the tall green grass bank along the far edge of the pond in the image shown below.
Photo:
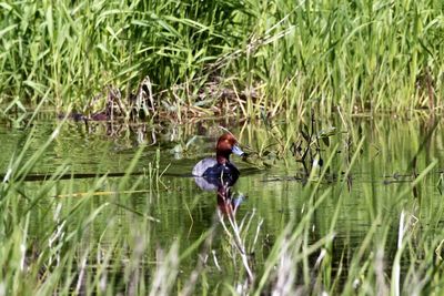
M101 110L147 76L158 111L441 111L443 3L0 2L0 102ZM31 103L31 105L29 105ZM204 110L204 111L202 111ZM221 109L223 110L223 109ZM202 113L199 113L201 111ZM225 112L226 113L226 112Z

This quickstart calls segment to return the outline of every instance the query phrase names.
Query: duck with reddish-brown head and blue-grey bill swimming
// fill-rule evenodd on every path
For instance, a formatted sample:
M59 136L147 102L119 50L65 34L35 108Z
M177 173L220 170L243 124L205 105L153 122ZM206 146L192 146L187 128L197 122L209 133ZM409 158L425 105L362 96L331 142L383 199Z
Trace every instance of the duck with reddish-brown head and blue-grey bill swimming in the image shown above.
M193 176L220 177L230 176L238 178L240 172L230 162L230 155L234 153L242 156L244 152L239 147L238 140L231 133L222 134L215 146L215 159L206 157L198 162L192 171Z

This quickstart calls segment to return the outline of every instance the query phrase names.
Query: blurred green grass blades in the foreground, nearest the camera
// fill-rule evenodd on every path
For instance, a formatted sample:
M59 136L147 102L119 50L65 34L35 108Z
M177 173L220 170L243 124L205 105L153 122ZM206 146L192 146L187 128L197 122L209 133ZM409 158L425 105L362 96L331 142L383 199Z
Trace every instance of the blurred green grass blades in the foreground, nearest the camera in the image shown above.
M155 204L135 205L129 193L141 186L148 196L160 194L157 160L145 176L130 177L142 149L128 175L109 188L114 193L104 198L100 195L110 186L105 176L78 194L78 181L60 181L69 170L63 165L39 186L27 184L24 176L59 136L59 129L31 157L23 155L32 136L23 141L0 184L2 295L442 294L444 212L443 206L428 204L428 182L424 183L436 161L425 164L412 182L386 186L383 201L374 182L363 183L362 195L353 196L347 181L363 157L365 140L357 140L359 132L352 129L355 152L347 162L333 165L339 146L325 151L323 170L312 173L297 193L303 211L293 211L269 243L258 239L262 217L251 212L215 213L214 223L188 246L181 247L180 239L159 246L150 232L160 223L151 216ZM332 171L342 177L325 186ZM357 239L353 233L337 233L350 198L364 198L369 206L362 214L372 217ZM324 205L333 208L329 215L323 214ZM122 218L130 222L121 223ZM221 248L213 248L216 236L223 238ZM195 266L191 271L190 262Z

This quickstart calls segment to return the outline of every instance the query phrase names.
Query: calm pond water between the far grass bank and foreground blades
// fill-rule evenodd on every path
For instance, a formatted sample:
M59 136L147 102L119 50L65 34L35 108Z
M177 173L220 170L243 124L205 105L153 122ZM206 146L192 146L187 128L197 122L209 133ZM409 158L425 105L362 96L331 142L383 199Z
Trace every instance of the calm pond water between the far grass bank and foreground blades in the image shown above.
M30 159L44 145L59 123L51 118L39 119L33 125L32 135L29 129L11 127L2 123L0 173L4 175L11 157L19 155L27 137L33 139L24 154L24 159ZM333 156L326 177L330 182L322 182L316 193L321 197L327 191L329 196L313 215L310 241L316 242L330 233L331 217L335 215L337 203L341 203L334 227L333 249L337 252L334 259L340 261L345 254L342 264L346 265L347 256L353 254L381 213L398 215L400 206L405 201L395 196L407 188L415 175L421 174L433 160L437 161L437 165L417 187L407 190L406 196L417 198L418 218L440 211L440 176L444 155L444 142L440 132L442 123L427 122L420 118L407 120L382 116L356 118L347 122L336 118L316 124L316 130L335 126L336 132L330 136L329 145L320 142L320 154L324 163L330 155ZM36 224L31 226L32 234L36 237L44 235L44 227L39 224L57 218L57 206L61 205L63 211L63 204L70 203L70 198L82 198L82 194L91 190L97 177L88 177L89 174L124 174L140 151L141 143L148 143L132 170L135 174L130 176L124 188L120 187L121 176L107 177L100 187L94 188L98 195L91 204L91 211L103 203L110 203L111 206L94 221L93 227L89 229L91 242L85 242L85 245L100 242L101 247L107 247L115 242L115 232L121 235L142 227L147 228L152 242L144 258L148 268L154 266L159 249L168 251L176 241L180 243L180 252L186 251L216 220L216 192L202 191L190 174L194 163L212 154L215 140L222 133L219 125L224 125L239 135L240 142L250 152L268 151L262 157L254 157L254 153L251 153L251 163L232 156L232 161L241 169L241 177L232 188L234 195L242 201L236 217L241 220L254 213L249 233L251 238L254 237L258 224L263 221L254 254L256 268L261 268L287 222L292 218L297 222L306 213L310 203L303 192L305 186L313 186L317 176L315 173L307 183L301 181L300 176L304 173L301 163L291 153L282 154L284 157L280 155L283 146L303 143L300 127L295 123L280 120L272 125L262 122L239 125L208 121L199 124L169 123L154 126L121 126L98 122L85 126L84 123L67 122L58 137L43 152L42 161L33 165L30 172L30 175L49 177L63 166L63 174L69 176L68 180L58 181L60 185L43 197L47 198L49 208L41 213L44 218L33 218ZM360 147L362 139L364 142ZM336 145L337 150L334 150ZM160 159L157 156L158 151ZM254 162L261 164L261 167L252 165ZM347 185L342 185L341 181L352 162ZM264 163L270 166L264 169ZM150 167L157 165L163 172L160 183L143 177L143 174L149 174ZM32 195L43 184L42 181L26 182L23 192ZM78 195L65 196L68 192ZM53 202L54 198L57 202ZM143 215L158 222L141 220L140 216ZM396 251L396 227L394 224L391 228L389 239L394 243L391 244L392 248L386 249L386 254L394 254ZM108 228L112 231L108 232ZM219 229L210 248L220 255L225 245L224 232ZM198 257L199 254L195 254L181 263L181 278L189 277L196 266ZM209 259L208 264L214 275L218 275L219 268L214 261ZM230 262L219 264L222 269L232 267ZM340 263L333 264L337 265ZM219 282L219 276L209 279L210 285Z

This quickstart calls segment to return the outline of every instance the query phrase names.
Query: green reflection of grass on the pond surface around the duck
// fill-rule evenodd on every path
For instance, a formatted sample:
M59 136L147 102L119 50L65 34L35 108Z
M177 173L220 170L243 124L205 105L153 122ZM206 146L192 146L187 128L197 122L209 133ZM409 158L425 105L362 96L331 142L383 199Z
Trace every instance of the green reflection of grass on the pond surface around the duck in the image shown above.
M67 222L62 226L63 232L69 234L71 228L78 231L78 225L85 223L83 218L87 214L77 216L72 215L73 211L82 208L91 214L107 204L90 224L82 227L84 232L78 234L82 237L84 249L89 249L92 254L92 251L111 248L113 253L120 254L119 258L131 261L134 255L130 249L137 247L138 237L143 237L148 243L140 262L144 266L147 282L150 282L160 259L159 249L168 251L179 241L181 254L200 239L216 221L216 193L200 190L190 177L190 172L195 162L212 153L214 141L220 134L218 124L208 122L191 126L171 125L160 131L154 129L144 131L145 137L142 141L140 133L138 134L140 126L125 126L128 129L115 132L110 131L113 127L107 123L97 123L92 131L88 131L81 123L64 124L60 135L32 172L50 174L61 165L67 165L69 174L125 172L140 143L144 141L150 145L144 149L134 172L145 172L145 174L132 175L130 182L124 184L124 188L119 185L121 181L119 177L104 177L95 188L93 186L98 184L97 178L58 181L48 192L42 192L46 182L26 182L21 188L24 195L32 198L36 193L44 194L41 205L32 211L30 217L29 235L39 246L38 252L43 252L40 249L44 247L41 239L50 239L50 233L61 227L58 223L63 221L63 217L69 217L67 220L69 224ZM441 123L436 130L432 130L432 124L421 120L395 121L382 118L354 119L347 124L340 120L331 120L322 122L321 125L336 126L343 133L333 135L330 146L322 145L320 153L325 160L332 153L334 155L331 169L326 173L330 176L326 180L330 182L321 183L315 198L326 190L330 192L314 212L310 222L310 233L306 235L311 243L329 235L332 216L339 210L333 228L334 271L340 265L351 264L352 255L375 223L374 244L377 244L380 237L381 243L384 243L386 258L389 262L393 261L398 226L397 220L393 217L400 216L402 210L408 208L412 216L422 221L421 227L424 227L424 232L437 232L443 216L442 196L437 185L443 155ZM33 130L33 147L28 152L29 155L47 141L54 126L54 122L37 123ZM233 157L241 172L246 172L241 175L233 188L234 192L246 196L240 205L236 217L241 221L253 212L255 215L252 220L254 224L252 231L248 234L250 241L245 239L246 242L253 239L258 223L263 220L259 243L251 246L254 249L256 272L263 267L274 241L289 221L294 220L297 224L307 212L312 204L309 195L303 192L315 184L315 181L309 181L304 185L300 180L293 180L301 174L302 166L294 161L290 152L280 151L285 142L296 141L296 124L283 124L278 121L276 126L269 130L258 123L235 126L232 130L244 146L253 151L261 151L268 146L270 151L279 151L276 154L281 156L274 160L274 165L269 170L249 170L251 164ZM198 140L190 144L190 140L196 134ZM26 137L26 131L1 127L0 142L3 146L0 172L7 171L11 155L20 150L21 142ZM356 151L362 137L365 137L363 147ZM333 150L335 144L337 151ZM183 147L179 153L178 145ZM160 170L163 171L165 167L168 170L161 177L161 183L153 183L147 177L147 170L149 163L155 165L158 149L161 150ZM350 166L354 153L357 153L356 163L352 167L349 184L343 185L343 173ZM427 177L400 197L400 192L408 188L415 176L433 160L437 160L437 165ZM93 197L89 195L90 198L82 201L81 194L92 188L100 194ZM64 196L73 193L80 195ZM154 223L148 220L148 216L159 222ZM383 227L387 224L390 227ZM209 268L206 280L210 290L219 287L222 282L233 283L236 271L242 269L242 266L236 265L235 261L226 255L230 254L226 251L229 248L226 241L225 233L219 225L209 246L219 261L218 263L214 258L206 261ZM82 253L82 249L79 252ZM185 282L196 268L199 249L194 249L192 254L180 263L179 278L182 282ZM310 261L315 261L315 257ZM124 268L114 269L113 273L118 275L117 277L125 277ZM346 272L342 273L341 277L346 278ZM223 276L220 276L221 274Z

